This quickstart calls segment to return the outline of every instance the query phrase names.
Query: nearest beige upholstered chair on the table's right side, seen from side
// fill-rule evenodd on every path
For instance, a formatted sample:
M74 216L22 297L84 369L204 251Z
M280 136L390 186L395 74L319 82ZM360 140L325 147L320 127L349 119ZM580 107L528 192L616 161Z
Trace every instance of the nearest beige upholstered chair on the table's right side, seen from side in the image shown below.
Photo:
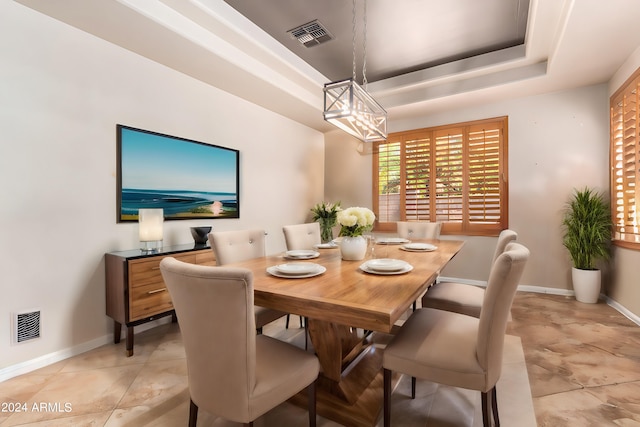
M491 268L480 318L432 308L412 313L391 339L382 356L384 368L384 425L391 422L391 376L401 372L415 378L478 390L482 416L490 426L489 410L500 425L496 383L502 372L507 318L529 250L510 243Z

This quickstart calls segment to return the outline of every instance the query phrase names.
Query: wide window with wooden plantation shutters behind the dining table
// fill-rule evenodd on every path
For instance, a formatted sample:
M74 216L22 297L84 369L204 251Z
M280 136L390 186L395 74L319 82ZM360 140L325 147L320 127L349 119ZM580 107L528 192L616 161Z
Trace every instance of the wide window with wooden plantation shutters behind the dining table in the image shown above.
M374 145L376 230L441 221L443 234L508 228L507 117L390 134Z

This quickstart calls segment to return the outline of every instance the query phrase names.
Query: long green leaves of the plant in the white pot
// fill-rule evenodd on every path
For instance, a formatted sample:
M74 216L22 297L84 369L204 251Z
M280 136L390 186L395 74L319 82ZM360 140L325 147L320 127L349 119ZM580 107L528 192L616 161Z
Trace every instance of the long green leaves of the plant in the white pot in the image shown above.
M575 268L595 270L598 260L609 258L611 225L611 212L602 194L587 187L575 190L562 219L562 243Z

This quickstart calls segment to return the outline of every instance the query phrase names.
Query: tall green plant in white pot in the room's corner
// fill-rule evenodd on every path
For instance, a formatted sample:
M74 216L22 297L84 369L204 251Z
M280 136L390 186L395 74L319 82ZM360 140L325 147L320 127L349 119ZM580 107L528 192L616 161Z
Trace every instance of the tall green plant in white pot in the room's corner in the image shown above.
M611 212L602 194L587 187L574 191L562 219L562 243L573 263L571 279L580 302L598 301L601 274L596 263L609 259L611 225Z

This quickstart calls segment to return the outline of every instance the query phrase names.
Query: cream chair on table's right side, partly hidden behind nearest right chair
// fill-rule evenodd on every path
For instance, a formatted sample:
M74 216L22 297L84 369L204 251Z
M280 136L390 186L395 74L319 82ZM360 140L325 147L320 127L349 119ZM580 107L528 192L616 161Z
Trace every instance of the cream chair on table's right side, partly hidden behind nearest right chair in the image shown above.
M507 245L518 238L513 230L502 230L491 263L504 252ZM431 286L422 297L422 307L453 311L473 317L480 317L484 299L484 288L456 282L439 282Z

